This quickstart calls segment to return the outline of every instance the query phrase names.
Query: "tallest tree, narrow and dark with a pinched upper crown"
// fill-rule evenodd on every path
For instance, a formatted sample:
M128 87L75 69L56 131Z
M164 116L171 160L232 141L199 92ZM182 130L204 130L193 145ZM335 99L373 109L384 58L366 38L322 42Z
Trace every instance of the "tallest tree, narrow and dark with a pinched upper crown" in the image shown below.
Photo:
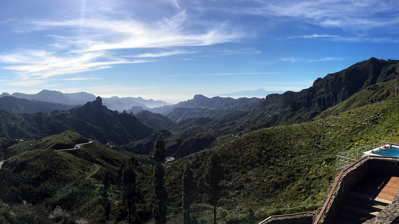
M165 169L162 163L165 162L166 149L165 140L161 133L158 134L154 143L155 150L152 153L155 161L154 167L154 220L155 224L166 223L166 200L168 200L168 191L165 187Z

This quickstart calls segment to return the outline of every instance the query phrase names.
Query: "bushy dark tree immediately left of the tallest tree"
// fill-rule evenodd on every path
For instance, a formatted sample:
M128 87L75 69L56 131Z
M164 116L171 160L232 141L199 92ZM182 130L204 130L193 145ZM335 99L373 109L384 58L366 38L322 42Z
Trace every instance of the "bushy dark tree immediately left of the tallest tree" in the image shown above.
M128 222L132 223L131 216L136 213L136 177L134 171L134 157L130 158L122 171L122 198L128 207Z

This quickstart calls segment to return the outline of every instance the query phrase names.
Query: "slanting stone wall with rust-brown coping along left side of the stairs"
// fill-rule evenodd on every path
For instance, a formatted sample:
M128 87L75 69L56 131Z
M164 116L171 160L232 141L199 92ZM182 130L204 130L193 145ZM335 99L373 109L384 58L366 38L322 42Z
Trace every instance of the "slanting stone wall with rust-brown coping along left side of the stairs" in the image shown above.
M318 224L332 223L348 191L363 179L367 173L369 173L369 158L359 161L344 171Z

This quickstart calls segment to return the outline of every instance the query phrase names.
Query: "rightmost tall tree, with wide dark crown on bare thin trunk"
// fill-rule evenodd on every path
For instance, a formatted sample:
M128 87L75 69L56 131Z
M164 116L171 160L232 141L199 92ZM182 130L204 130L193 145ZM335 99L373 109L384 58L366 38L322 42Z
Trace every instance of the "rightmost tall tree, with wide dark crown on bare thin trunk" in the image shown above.
M212 153L203 173L204 199L213 205L213 223L216 224L216 203L220 199L223 187L220 181L223 179L223 165L221 157L217 153Z

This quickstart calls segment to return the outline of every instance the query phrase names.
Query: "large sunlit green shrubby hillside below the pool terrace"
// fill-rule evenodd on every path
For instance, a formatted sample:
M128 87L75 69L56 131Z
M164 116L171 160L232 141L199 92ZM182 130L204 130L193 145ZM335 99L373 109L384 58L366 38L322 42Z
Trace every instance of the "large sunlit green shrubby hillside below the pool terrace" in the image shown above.
M397 100L385 100L311 122L257 130L175 161L166 172L170 207L177 209L181 203L183 164L190 161L199 179L207 157L217 151L225 164L228 192L219 206L233 214L221 222L237 219L234 214L239 212L247 215L241 208L253 208L255 220L315 210L338 173L336 154L381 140L399 142L397 106ZM200 204L198 192L196 207ZM210 216L203 214L196 213L210 221ZM179 217L170 214L172 220Z

